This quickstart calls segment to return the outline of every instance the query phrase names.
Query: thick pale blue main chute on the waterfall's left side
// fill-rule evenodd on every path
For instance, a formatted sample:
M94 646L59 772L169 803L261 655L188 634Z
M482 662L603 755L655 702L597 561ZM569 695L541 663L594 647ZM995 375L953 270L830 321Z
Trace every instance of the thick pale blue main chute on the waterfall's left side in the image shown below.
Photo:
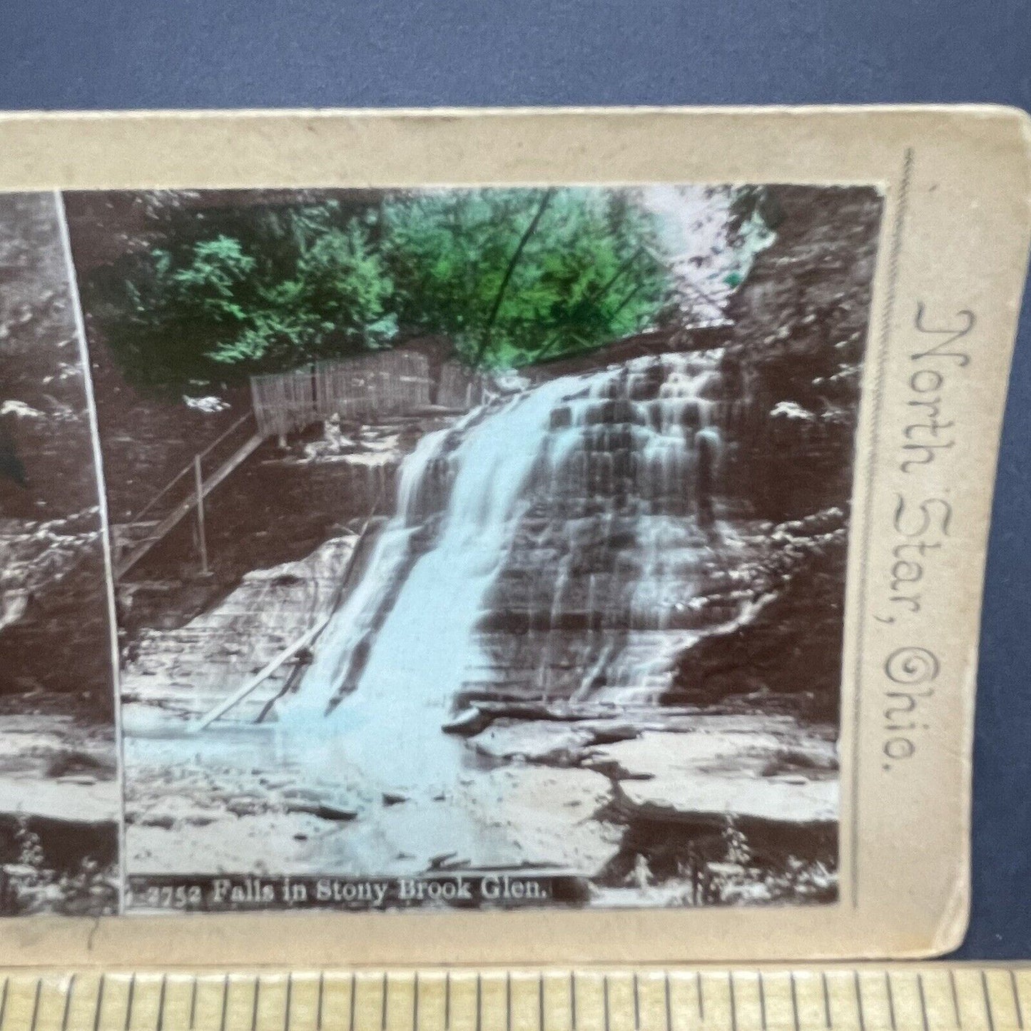
M408 791L421 773L454 766L456 743L439 728L464 670L483 661L471 631L504 559L508 529L525 504L537 458L530 442L546 431L557 401L575 389L574 378L558 379L517 397L467 430L445 458L455 478L437 542L404 579L354 690L325 718L324 730L350 742L348 759L384 790ZM323 634L290 723L308 718L310 727L312 711L325 712L339 692L341 673L367 639L369 621L394 587L425 518L423 481L443 457L448 435L429 434L403 463L398 513L361 584Z

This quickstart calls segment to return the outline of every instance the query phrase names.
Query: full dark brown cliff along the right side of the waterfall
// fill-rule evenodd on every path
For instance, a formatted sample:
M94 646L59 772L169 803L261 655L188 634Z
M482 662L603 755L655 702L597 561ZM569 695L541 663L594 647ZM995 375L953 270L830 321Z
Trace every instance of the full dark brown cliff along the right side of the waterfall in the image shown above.
M745 399L728 473L769 531L746 625L703 637L677 690L751 692L834 718L840 698L847 511L882 198L870 188L769 190L776 239L731 302L723 376Z

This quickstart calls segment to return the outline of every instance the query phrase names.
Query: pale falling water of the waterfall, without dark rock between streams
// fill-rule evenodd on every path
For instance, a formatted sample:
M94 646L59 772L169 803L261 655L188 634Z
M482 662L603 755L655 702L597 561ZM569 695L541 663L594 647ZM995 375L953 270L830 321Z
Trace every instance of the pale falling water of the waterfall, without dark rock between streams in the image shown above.
M695 440L714 434L712 402L699 392L714 375L717 358L644 358L555 379L495 410L475 410L453 430L427 435L402 464L397 514L285 705L284 730L331 735L374 790L410 795L454 780L462 742L440 726L456 693L491 668L475 627L499 575L519 558L512 553L519 533L526 536L530 506L551 504L555 532L567 535L564 559L534 570L551 625L572 605L566 594L577 548L569 535L592 520L610 526L622 516L626 522L609 498L619 477L605 436L612 430L605 423L610 407L604 406L613 399L624 405L627 423L619 432L633 470L636 565L629 573L591 576L591 629L580 635L585 667L574 695L599 680L609 696L617 689L629 696L635 689L660 691L676 655L695 636L683 627L669 630L698 563L697 521L684 506L692 502ZM638 380L648 375L653 385L660 376L661 386L634 400L641 393ZM565 409L567 425L559 420L555 428L556 413ZM571 518L567 526L561 510L570 499L586 503L592 514ZM622 504L625 509L626 499ZM429 532L428 523L432 530L433 519L439 526L427 546L417 536ZM625 558L613 551L612 569ZM596 579L604 580L600 592ZM595 605L598 630L590 611ZM539 642L544 658L533 660L542 667L545 692L552 636ZM536 640L536 633L531 637Z

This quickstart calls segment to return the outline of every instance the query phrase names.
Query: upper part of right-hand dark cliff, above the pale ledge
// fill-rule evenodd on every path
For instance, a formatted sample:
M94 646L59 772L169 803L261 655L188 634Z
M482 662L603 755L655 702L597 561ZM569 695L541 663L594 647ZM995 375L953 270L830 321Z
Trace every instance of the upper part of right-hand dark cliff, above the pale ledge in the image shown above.
M773 187L776 238L731 301L728 389L755 514L797 519L852 495L860 380L883 201L872 188Z

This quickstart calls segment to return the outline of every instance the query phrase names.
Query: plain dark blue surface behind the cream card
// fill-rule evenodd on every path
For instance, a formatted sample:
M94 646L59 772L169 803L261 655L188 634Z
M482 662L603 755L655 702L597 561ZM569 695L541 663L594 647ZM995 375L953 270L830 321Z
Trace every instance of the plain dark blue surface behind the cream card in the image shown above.
M0 0L0 108L891 101L1031 107L1031 4ZM1025 298L985 598L971 958L1031 958L1029 445Z

